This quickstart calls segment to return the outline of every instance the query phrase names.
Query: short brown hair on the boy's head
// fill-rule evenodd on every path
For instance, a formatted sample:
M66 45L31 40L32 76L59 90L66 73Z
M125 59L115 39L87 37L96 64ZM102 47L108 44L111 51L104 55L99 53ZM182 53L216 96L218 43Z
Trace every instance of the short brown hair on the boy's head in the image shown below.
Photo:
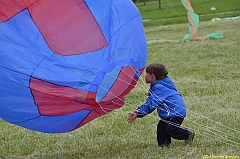
M167 77L168 71L167 68L161 63L152 63L147 66L146 72L153 73L156 77L156 80L162 80Z

